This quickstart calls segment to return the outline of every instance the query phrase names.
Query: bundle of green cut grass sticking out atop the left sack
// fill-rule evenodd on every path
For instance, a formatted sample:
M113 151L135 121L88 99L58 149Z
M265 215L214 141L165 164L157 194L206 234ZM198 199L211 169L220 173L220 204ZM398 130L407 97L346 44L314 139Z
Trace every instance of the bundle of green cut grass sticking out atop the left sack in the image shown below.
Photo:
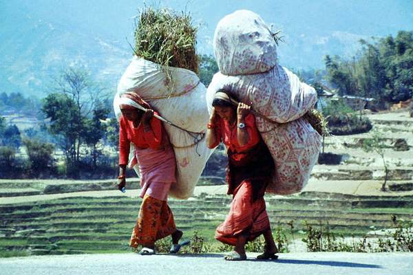
M153 63L198 74L197 30L189 14L145 8L136 19L135 54Z

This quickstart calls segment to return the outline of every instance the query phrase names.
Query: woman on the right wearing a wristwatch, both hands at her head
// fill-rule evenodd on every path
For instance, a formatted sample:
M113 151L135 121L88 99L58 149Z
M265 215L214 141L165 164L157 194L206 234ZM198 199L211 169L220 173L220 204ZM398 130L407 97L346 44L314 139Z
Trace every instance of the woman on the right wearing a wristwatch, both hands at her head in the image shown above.
M251 107L244 103L235 107L224 91L215 94L212 106L207 144L215 148L224 142L229 160L228 194L233 195L229 214L218 226L215 239L235 246L234 251L225 256L226 260L242 261L246 259L246 241L263 234L266 245L257 259L277 259L277 246L264 201L274 167L273 158L258 133Z

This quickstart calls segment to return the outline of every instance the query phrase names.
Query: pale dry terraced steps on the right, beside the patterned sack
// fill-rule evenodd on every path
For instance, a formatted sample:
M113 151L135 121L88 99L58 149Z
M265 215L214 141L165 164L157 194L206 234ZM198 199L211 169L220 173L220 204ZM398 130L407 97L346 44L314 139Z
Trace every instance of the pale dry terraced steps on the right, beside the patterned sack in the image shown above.
M389 190L413 190L413 118L403 110L372 114L368 117L373 124L372 130L379 131L385 142ZM357 135L326 137L324 151L341 155L341 163L316 165L307 190L346 193L348 184L351 186L366 181L377 181L379 186L385 177L382 159L377 153L366 153L362 150L363 140L371 135L372 131ZM313 184L311 180L317 181L317 184ZM328 188L323 181L343 181L343 184ZM368 194L370 192L366 193Z

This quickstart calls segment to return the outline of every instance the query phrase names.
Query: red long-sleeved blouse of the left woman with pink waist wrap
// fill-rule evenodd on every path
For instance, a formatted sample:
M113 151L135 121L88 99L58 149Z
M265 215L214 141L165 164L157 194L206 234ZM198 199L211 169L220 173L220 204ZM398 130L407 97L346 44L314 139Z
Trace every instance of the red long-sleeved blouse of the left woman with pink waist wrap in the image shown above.
M156 113L156 112L155 112ZM156 113L158 114L158 113ZM142 123L137 128L134 122L127 120L123 115L119 121L119 165L127 165L129 159L130 143L135 144L137 148L159 149L166 142L166 134L162 129L162 122L158 118L151 118L152 131L143 131ZM162 142L163 140L163 142Z

